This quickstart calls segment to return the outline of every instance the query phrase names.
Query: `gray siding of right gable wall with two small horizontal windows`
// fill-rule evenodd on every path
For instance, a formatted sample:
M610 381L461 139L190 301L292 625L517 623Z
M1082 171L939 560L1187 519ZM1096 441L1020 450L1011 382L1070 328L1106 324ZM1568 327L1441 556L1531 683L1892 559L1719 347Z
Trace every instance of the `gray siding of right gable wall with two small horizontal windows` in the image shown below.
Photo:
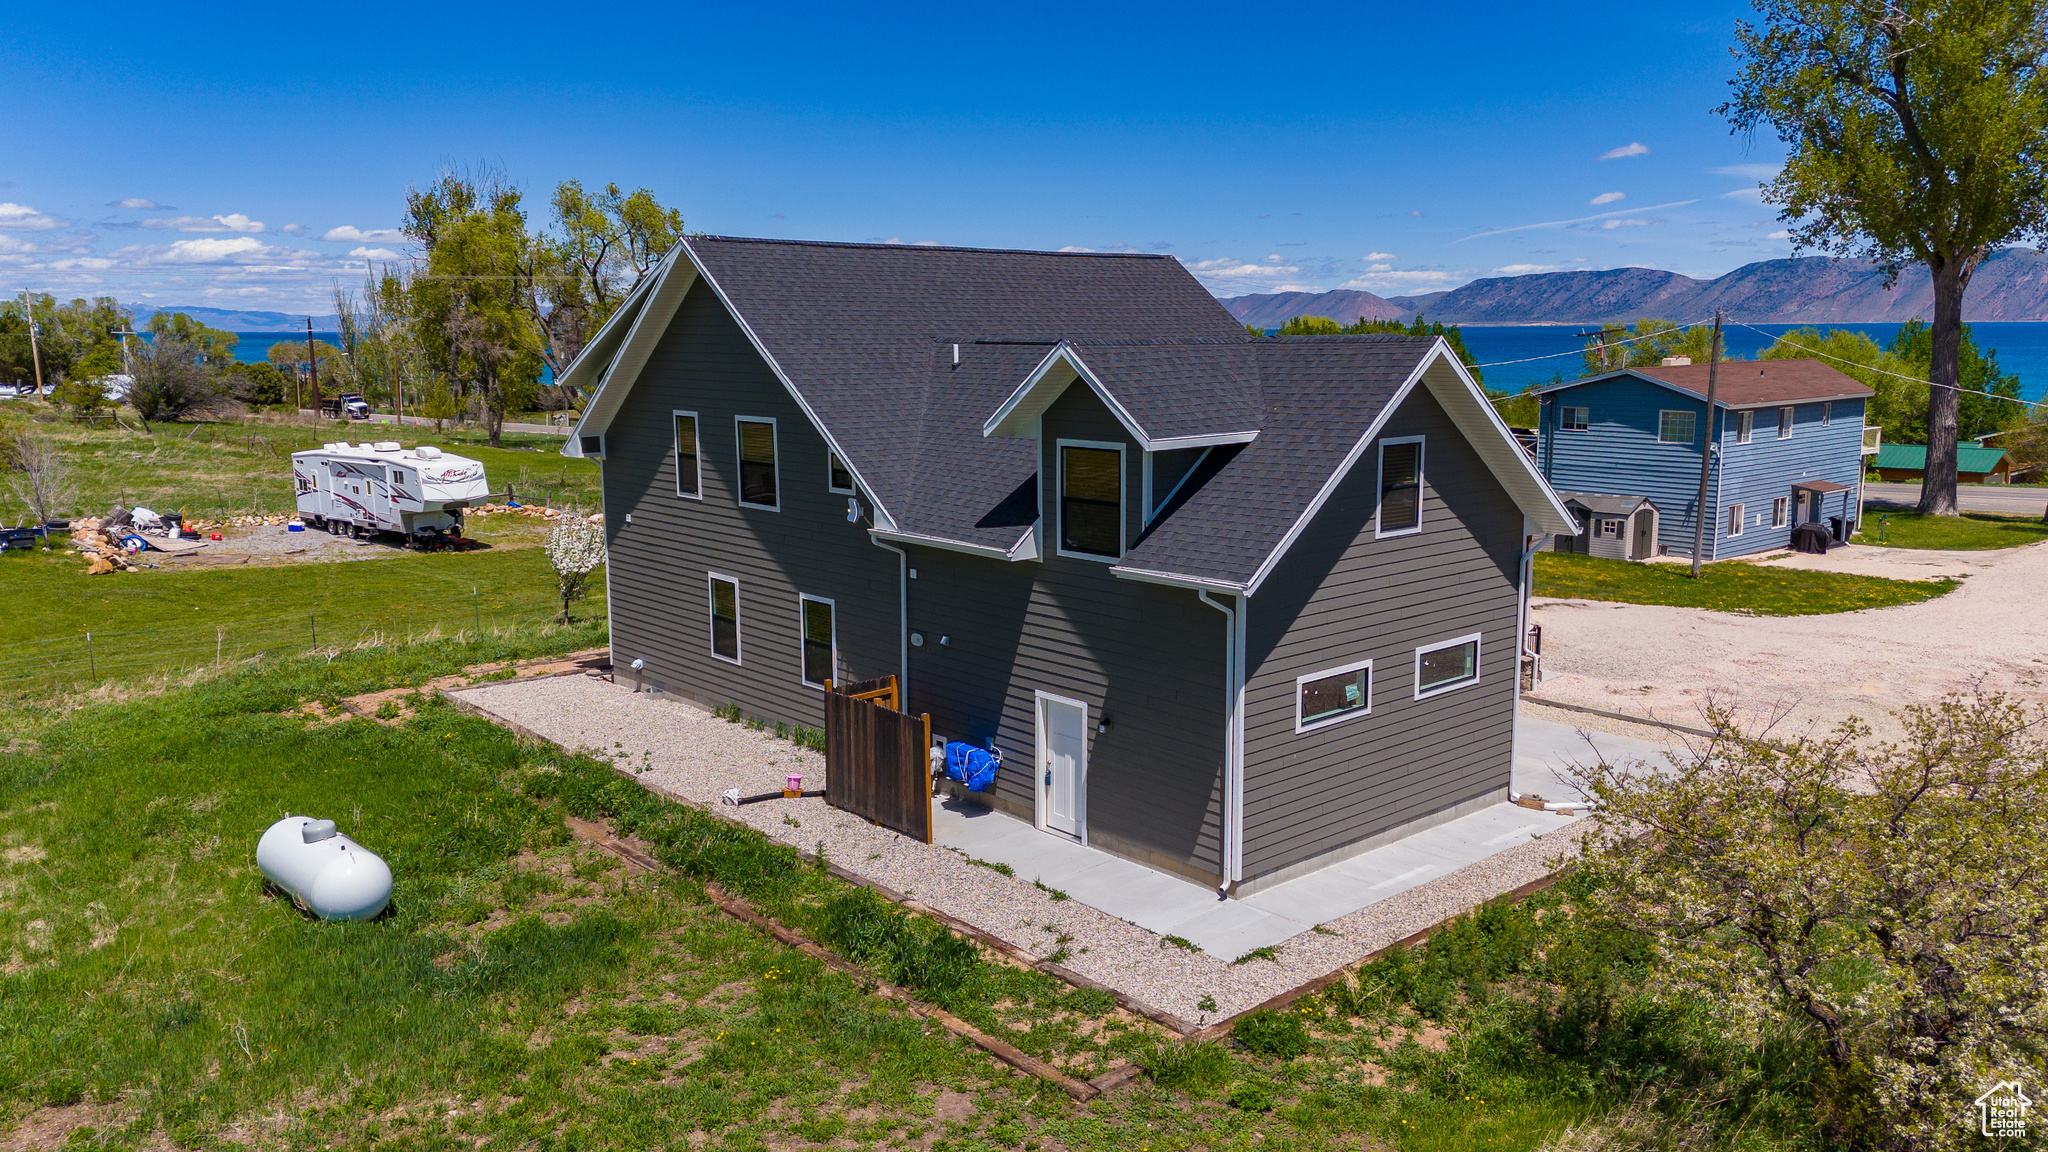
M1245 877L1505 789L1513 760L1522 510L1417 389L1386 437L1425 437L1423 529L1374 539L1378 447L1251 596ZM1481 633L1473 687L1413 699L1415 648ZM1370 658L1372 713L1294 732L1294 678Z

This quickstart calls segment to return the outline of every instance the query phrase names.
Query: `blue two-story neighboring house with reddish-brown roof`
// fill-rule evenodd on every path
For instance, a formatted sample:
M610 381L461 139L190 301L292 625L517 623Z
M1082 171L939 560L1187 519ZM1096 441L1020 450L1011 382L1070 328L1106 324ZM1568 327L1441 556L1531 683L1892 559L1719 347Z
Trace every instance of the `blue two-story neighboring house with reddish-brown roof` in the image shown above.
M1710 424L1706 560L1784 549L1792 527L1864 508L1870 387L1812 361L1667 361L1538 387L1536 463L1585 531L1554 547L1649 560L1692 556Z

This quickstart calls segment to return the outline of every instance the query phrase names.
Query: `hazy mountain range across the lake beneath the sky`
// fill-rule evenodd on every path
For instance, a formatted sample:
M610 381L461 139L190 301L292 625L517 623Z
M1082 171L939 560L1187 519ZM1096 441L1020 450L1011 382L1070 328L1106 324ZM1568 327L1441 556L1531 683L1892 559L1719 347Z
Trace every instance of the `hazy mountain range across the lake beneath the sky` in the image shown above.
M1866 260L1804 256L1757 260L1710 281L1659 269L1532 273L1489 277L1450 291L1378 297L1368 291L1260 293L1223 301L1245 324L1278 328L1294 316L1407 320L1421 312L1444 324L1604 324L1645 316L1681 324L1714 310L1747 324L1896 324L1933 316L1927 269L1913 264L1884 287ZM1993 252L1962 299L1970 322L2048 320L2048 254Z

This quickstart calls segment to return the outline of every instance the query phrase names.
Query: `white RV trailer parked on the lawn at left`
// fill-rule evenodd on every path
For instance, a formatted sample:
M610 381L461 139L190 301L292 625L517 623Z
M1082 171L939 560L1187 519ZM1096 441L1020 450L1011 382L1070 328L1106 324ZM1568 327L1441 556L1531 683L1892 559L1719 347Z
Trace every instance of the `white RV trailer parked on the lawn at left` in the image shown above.
M463 508L492 496L483 463L432 445L348 441L291 453L299 517L313 529L399 533L420 547L463 535Z

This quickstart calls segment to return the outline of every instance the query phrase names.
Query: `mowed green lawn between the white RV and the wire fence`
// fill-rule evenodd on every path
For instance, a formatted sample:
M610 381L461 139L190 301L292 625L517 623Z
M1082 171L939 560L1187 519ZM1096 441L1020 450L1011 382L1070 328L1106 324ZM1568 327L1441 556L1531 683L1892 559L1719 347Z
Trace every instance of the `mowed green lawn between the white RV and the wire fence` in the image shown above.
M588 588L575 617L602 621L602 570ZM0 613L0 699L311 648L526 627L559 613L537 547L106 576L86 576L70 551L6 551L0 603L10 609ZM604 637L592 631L588 642Z

